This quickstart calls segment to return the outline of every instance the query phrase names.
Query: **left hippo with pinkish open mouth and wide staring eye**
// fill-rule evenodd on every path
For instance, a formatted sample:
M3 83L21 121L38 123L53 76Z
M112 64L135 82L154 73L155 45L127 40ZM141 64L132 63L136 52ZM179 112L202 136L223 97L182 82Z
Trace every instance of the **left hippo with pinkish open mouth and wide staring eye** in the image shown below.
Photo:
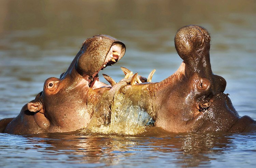
M0 121L0 131L12 134L69 132L86 127L98 98L108 87L98 72L125 54L119 40L97 35L84 41L60 78L45 80L43 91L24 105L16 118Z

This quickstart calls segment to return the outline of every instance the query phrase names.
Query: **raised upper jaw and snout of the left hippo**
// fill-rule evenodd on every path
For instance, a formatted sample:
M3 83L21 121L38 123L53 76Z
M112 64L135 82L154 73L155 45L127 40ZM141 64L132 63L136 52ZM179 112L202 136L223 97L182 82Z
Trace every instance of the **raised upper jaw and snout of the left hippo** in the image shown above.
M125 44L111 36L96 35L88 38L60 79L66 76L74 80L83 78L88 82L88 87L93 89L106 86L99 81L99 71L119 61L125 51Z

